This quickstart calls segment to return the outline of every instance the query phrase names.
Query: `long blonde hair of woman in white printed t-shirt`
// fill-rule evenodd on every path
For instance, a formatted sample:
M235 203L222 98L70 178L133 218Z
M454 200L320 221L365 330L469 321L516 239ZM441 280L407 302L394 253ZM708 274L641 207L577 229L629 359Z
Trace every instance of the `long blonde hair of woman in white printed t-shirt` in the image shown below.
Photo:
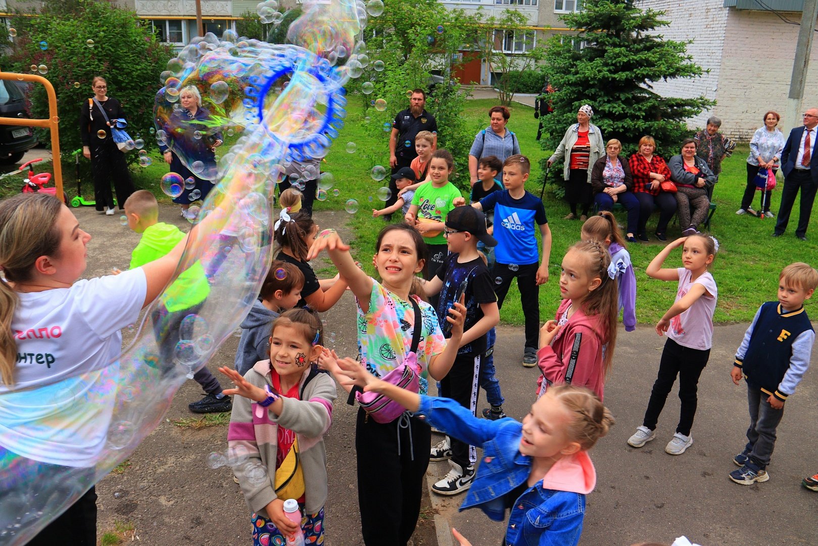
M46 193L21 193L0 201L0 379L14 385L17 343L11 331L11 319L17 306L17 293L9 282L31 278L34 262L40 256L56 256L60 232L56 219L63 204Z

